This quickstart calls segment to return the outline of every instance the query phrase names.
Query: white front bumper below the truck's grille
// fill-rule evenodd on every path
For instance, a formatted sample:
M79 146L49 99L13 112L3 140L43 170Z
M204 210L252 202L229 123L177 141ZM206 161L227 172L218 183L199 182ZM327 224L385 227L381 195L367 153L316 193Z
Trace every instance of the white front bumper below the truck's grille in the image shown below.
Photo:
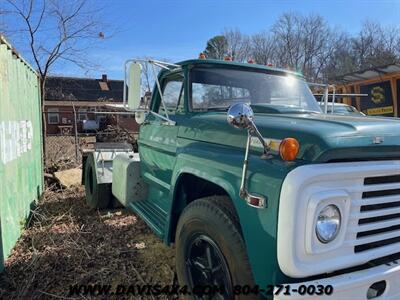
M368 290L371 285L379 281L386 282L384 293L380 297L367 298ZM342 274L321 280L307 281L290 285L290 295L275 295L274 299L385 299L385 300L398 300L400 299L400 260L396 260L384 265L373 267L366 270ZM300 295L294 290L298 290L301 285L332 285L333 293L331 295ZM275 290L276 291L276 290ZM370 290L371 293L371 290ZM373 294L373 293L372 293Z

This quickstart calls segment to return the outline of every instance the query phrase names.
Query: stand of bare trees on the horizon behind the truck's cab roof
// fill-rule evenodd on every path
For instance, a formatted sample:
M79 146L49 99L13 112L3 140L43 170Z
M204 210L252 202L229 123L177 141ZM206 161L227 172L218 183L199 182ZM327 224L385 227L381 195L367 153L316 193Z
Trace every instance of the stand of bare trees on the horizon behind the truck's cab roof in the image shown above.
M259 64L301 71L312 81L400 62L400 26L371 21L350 35L329 26L319 15L285 13L270 28L250 37L239 29L225 29L222 35L223 40L208 41L209 57L222 58L213 51L218 47L222 53L225 44L221 41L226 41L226 51L236 61L252 57Z

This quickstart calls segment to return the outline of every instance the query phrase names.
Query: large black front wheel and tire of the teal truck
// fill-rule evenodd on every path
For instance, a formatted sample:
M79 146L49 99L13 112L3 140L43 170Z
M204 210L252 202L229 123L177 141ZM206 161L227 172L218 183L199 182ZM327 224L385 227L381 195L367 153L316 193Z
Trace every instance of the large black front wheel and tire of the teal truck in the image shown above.
M253 299L234 287L254 286L238 218L230 199L213 196L190 203L176 233L176 271L197 299ZM217 291L207 295L211 288ZM202 289L203 288L203 289Z

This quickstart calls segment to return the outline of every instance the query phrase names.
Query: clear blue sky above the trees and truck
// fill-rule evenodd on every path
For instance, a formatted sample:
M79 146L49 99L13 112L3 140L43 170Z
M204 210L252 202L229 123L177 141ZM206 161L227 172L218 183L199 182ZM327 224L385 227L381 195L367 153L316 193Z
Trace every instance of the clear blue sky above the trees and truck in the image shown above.
M0 4L2 1L0 0ZM57 64L51 72L68 76L122 79L129 58L152 56L180 61L197 58L207 40L225 28L254 34L270 28L285 12L316 13L333 27L356 33L369 19L396 25L400 0L97 0L104 7L106 39L89 50L100 66L85 72L71 64ZM8 26L15 20L8 19ZM109 32L108 32L109 29ZM113 32L111 38L108 34ZM14 44L18 49L18 42ZM24 53L22 52L24 56Z

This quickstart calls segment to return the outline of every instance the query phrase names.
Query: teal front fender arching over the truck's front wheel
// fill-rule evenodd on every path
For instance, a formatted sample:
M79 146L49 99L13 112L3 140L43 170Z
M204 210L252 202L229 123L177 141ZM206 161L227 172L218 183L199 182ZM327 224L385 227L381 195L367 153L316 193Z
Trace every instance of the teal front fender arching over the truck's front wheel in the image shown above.
M176 197L177 183L182 174L191 174L220 186L231 198L238 214L256 284L265 287L287 282L277 261L277 221L281 185L293 166L277 158L262 160L259 153L251 153L248 189L267 198L267 208L259 209L247 205L239 197L243 148L188 140L181 140L180 144L171 180L171 210L176 204L173 202L179 201L176 200L179 199ZM173 215L172 211L169 215ZM169 222L168 231L171 230L171 220ZM171 232L166 236L171 236Z

